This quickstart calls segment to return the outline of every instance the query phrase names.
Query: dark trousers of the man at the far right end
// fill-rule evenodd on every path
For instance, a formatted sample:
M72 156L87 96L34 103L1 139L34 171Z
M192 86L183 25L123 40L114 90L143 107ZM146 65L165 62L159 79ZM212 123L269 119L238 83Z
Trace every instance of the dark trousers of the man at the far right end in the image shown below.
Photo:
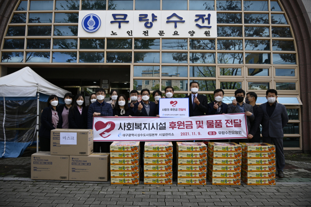
M283 171L285 167L285 158L283 151L283 137L262 137L263 143L270 143L276 146L276 170Z

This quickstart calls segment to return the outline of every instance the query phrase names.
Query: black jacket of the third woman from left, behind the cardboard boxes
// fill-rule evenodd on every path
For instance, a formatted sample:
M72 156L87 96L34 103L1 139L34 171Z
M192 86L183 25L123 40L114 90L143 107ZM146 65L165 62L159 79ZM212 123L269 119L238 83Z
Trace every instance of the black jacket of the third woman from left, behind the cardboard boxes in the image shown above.
M69 110L68 115L69 128L86 129L87 128L87 108L82 107L82 113L77 107Z

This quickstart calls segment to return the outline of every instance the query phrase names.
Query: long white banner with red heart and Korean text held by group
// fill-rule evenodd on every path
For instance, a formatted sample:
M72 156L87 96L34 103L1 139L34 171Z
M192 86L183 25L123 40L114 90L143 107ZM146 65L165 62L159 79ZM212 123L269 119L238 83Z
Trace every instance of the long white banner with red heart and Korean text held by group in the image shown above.
M95 116L94 141L182 141L247 138L245 113L178 118Z

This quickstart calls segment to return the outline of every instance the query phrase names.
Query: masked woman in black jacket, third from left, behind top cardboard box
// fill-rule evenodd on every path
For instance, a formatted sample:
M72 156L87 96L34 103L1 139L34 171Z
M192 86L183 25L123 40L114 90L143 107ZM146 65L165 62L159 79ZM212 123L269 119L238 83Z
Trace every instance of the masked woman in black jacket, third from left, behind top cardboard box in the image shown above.
M87 129L87 108L82 94L73 100L69 111L69 128Z

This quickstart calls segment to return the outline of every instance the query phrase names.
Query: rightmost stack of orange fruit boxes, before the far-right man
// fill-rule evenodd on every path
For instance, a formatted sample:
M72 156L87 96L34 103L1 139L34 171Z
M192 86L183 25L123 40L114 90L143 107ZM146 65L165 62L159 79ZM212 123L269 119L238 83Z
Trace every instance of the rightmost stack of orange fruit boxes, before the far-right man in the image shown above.
M269 143L241 143L242 181L247 185L276 184L276 147Z

